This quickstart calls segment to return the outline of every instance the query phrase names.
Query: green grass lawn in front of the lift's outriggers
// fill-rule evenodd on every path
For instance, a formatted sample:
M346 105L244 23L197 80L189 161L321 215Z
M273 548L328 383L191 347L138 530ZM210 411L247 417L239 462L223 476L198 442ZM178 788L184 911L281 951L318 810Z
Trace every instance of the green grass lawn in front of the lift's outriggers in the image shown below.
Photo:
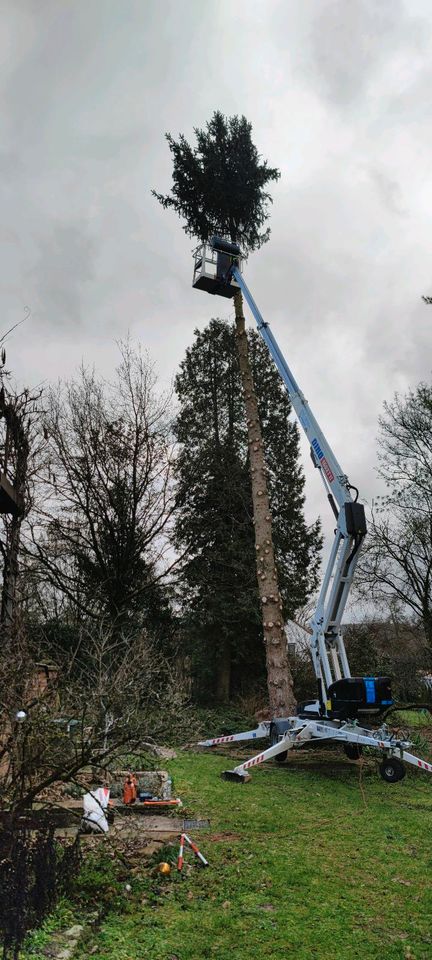
M128 878L103 855L84 868L76 922L92 883L104 916L80 960L430 960L432 778L387 785L371 761L360 776L316 752L242 786L219 776L235 762L182 753L169 764L188 815L211 820L195 834L208 869L188 857L188 875ZM23 956L46 956L43 936Z

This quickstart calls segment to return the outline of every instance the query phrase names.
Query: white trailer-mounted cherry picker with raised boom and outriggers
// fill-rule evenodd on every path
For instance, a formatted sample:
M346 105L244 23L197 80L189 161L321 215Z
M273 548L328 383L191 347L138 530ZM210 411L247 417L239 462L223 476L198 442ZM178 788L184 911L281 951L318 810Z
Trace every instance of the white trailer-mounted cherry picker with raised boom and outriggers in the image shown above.
M394 702L389 677L351 676L342 618L367 532L365 510L358 501L357 488L340 467L243 279L242 253L238 244L216 236L201 244L194 253L193 286L223 297L233 297L238 290L242 291L308 438L312 461L319 470L336 520L334 541L310 637L317 699L298 707L294 717L264 721L254 730L203 740L200 745L212 747L269 738L267 749L223 773L224 779L239 783L250 780L252 767L273 758L283 761L288 751L312 745L314 741L323 745L327 742L329 746L341 744L350 759L357 759L363 747L374 749L381 756L380 774L388 783L402 780L406 773L404 763L432 773L432 764L410 753L411 743L394 736L380 719ZM375 725L371 726L372 723Z

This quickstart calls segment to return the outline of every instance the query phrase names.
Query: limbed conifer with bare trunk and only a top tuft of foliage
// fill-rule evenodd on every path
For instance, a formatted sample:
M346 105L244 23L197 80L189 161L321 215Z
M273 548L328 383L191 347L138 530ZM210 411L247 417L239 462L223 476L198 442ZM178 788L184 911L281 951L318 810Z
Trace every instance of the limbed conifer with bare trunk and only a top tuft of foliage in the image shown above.
M183 135L167 134L173 160L171 194L153 191L165 208L184 218L184 230L206 241L220 234L239 243L244 253L258 249L270 235L266 186L280 172L263 161L245 117L216 111L205 130L195 129L196 146ZM256 400L240 291L234 298L237 350L249 436L252 506L255 523L257 582L266 647L269 705L273 716L292 713L295 699L282 622L275 562L267 465Z

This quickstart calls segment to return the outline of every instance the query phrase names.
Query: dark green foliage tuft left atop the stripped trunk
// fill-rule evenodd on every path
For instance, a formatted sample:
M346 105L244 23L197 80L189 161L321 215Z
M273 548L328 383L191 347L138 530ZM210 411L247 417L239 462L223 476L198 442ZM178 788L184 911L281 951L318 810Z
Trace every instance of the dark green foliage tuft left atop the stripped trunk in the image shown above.
M262 161L252 142L252 125L245 117L213 114L205 130L195 129L196 146L183 134L166 139L173 161L170 194L153 196L186 221L189 236L208 240L213 234L230 237L245 253L256 250L270 235L266 184L278 180L279 170Z

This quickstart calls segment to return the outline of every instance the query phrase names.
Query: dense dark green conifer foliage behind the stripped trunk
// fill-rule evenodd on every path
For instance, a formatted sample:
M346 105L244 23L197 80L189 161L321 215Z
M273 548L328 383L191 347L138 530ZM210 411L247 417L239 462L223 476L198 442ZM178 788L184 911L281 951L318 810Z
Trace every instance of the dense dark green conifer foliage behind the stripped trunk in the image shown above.
M284 617L317 583L319 523L307 527L297 426L265 345L248 334L269 467L274 539ZM252 494L235 327L212 320L195 331L176 380L176 538L183 569L185 633L202 689L264 680L262 617L255 572ZM213 688L214 689L214 688Z

